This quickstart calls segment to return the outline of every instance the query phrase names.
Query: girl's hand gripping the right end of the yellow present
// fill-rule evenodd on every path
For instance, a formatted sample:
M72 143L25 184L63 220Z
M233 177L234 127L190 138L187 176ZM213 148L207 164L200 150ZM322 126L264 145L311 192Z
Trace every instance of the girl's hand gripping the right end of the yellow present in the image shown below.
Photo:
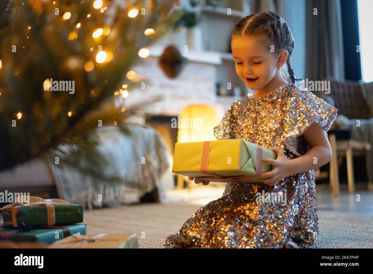
M274 186L280 180L291 175L290 171L290 160L286 158L285 154L278 147L272 147L270 150L276 152L277 159L263 159L264 163L269 163L272 165L272 170L266 173L262 173L260 177L269 177L268 179L260 179L260 182L266 183L267 185Z

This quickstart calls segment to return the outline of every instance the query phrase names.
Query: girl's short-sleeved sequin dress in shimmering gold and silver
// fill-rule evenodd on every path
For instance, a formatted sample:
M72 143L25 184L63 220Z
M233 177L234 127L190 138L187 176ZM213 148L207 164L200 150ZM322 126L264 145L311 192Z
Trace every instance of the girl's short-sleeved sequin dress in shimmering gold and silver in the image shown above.
M309 149L302 134L312 123L329 130L337 110L305 88L282 86L259 98L236 100L218 126L217 139L245 139L264 148L277 145L288 159ZM257 202L256 193L277 192L286 204ZM269 201L269 200L267 200ZM283 248L289 240L312 246L319 233L315 171L294 174L274 186L226 184L223 196L201 207L164 246L182 248Z

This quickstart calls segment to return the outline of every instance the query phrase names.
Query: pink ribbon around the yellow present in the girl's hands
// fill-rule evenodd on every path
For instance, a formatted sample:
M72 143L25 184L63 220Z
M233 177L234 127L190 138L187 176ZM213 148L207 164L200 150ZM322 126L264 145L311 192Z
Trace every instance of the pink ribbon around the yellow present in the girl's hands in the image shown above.
M200 172L210 175L211 177L203 177L203 178L197 178L197 179L202 179L202 180L228 179L228 180L232 180L232 182L241 182L242 180L254 179L254 178L260 177L262 173L261 160L263 159L263 148L259 145L257 145L256 147L257 147L257 161L256 161L256 172L254 175L238 176L238 177L223 177L217 174L210 173L208 171L211 141L204 141L202 145Z

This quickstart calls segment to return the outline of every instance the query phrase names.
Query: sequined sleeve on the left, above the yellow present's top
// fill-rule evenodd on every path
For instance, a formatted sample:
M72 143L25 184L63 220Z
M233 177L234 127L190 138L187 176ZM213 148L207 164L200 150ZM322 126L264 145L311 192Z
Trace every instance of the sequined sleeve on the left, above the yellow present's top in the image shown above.
M224 139L235 139L235 110L237 108L238 100L228 108L226 113L223 116L223 119L220 121L219 125L214 127L214 136L218 140Z

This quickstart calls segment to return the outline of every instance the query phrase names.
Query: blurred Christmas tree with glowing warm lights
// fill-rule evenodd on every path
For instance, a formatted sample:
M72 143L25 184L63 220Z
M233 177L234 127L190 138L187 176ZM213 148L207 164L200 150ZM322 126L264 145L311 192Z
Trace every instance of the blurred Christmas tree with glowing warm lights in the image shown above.
M141 109L123 104L140 84L131 66L181 16L175 4L1 1L0 171L71 145L78 149L65 163L99 177L94 130L101 121L126 132L126 118ZM80 167L80 157L97 165Z

